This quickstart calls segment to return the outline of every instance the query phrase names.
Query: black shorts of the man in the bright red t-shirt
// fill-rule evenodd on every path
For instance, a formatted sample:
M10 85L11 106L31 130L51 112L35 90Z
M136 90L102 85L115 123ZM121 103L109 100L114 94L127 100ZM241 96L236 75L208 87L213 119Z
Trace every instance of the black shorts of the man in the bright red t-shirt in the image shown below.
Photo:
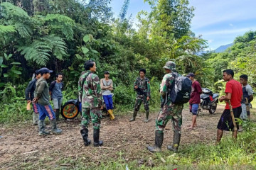
M239 106L238 108L233 108L233 113L235 118L239 118L242 113L241 106ZM239 128L238 123L236 123L236 125L237 125L237 128ZM226 131L233 130L234 124L233 124L233 120L231 118L229 109L225 109L223 111L223 114L221 115L220 120L218 122L217 128L219 130L226 130Z

